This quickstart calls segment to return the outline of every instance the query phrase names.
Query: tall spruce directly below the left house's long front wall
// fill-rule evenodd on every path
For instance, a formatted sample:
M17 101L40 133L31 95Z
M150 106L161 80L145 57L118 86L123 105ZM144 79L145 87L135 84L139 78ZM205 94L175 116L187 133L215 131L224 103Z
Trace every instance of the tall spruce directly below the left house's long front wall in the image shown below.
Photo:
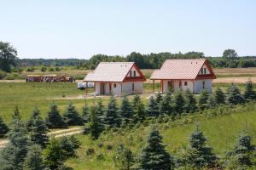
M105 122L109 127L120 127L121 118L116 104L116 99L113 96L110 98L108 103L108 109L106 111Z

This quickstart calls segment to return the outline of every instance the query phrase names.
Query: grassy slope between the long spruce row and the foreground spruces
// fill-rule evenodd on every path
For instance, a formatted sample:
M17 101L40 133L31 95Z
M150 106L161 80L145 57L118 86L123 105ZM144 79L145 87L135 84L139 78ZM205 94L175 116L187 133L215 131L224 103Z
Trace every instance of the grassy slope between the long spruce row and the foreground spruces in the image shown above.
M176 127L172 127L172 122L159 124L160 133L164 137L166 149L170 153L180 150L188 144L190 133L199 124L208 139L208 144L214 148L214 152L219 156L224 156L224 151L229 150L236 140L237 133L247 127L249 133L253 135L253 143L256 142L256 105L250 105L246 109L238 109L230 115L215 116L213 118L205 116L194 116L193 122L183 123ZM102 134L100 139L91 140L88 135L77 135L82 142L81 148L78 150L78 157L69 159L67 166L76 170L93 170L93 169L116 169L113 164L114 150L120 143L125 144L132 152L137 155L139 150L145 144L150 127L139 127L133 130L118 133ZM102 144L102 147L99 145ZM113 149L108 150L108 145ZM86 150L94 149L95 154L86 155ZM103 155L103 160L98 160L97 156Z

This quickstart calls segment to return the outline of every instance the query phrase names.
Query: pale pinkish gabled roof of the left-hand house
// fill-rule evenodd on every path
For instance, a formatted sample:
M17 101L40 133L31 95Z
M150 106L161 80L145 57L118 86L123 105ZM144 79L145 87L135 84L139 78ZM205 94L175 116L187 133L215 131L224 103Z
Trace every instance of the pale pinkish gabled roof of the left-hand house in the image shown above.
M101 62L86 75L84 82L123 82L133 66L137 68L134 62Z

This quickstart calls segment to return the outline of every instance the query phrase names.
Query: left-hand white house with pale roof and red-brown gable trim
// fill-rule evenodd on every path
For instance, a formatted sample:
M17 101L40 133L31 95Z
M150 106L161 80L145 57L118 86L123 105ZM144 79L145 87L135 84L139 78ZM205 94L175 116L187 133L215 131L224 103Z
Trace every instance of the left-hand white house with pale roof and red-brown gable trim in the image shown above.
M94 93L143 94L146 78L134 62L101 62L84 82L94 82Z

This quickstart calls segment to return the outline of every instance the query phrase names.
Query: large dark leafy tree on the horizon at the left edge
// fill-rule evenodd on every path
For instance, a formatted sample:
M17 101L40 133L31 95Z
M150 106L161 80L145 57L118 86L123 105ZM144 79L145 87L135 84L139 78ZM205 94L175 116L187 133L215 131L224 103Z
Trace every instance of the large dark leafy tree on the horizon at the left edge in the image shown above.
M0 42L0 70L10 72L17 63L17 50L9 42Z

